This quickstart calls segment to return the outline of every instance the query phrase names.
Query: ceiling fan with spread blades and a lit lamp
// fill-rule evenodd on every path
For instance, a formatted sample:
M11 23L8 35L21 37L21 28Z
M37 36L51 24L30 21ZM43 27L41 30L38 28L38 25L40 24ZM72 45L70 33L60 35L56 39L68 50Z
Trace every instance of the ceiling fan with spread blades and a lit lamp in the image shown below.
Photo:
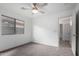
M36 14L36 13L44 14L45 11L44 11L43 7L45 7L46 5L47 5L47 3L32 3L31 7L30 6L21 7L21 9L23 9L23 10L32 10L33 14Z

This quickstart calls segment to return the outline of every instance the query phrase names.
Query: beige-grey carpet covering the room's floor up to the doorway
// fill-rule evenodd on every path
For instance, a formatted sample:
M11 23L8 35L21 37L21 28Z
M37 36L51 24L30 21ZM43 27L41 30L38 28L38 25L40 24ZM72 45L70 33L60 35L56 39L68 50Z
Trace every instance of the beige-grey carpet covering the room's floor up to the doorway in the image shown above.
M73 53L69 47L57 48L37 43L29 43L0 53L0 56L73 56Z

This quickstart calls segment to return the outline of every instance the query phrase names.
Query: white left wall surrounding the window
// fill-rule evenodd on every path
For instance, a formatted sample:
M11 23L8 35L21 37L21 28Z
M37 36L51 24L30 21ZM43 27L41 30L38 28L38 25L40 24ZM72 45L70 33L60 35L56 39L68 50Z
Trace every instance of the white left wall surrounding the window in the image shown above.
M0 35L0 51L13 48L32 41L32 18L24 17L21 14L17 14L8 10L0 10L0 21L1 14L14 17L19 20L25 21L25 32L24 34L17 35ZM1 23L0 23L0 34L1 34Z

